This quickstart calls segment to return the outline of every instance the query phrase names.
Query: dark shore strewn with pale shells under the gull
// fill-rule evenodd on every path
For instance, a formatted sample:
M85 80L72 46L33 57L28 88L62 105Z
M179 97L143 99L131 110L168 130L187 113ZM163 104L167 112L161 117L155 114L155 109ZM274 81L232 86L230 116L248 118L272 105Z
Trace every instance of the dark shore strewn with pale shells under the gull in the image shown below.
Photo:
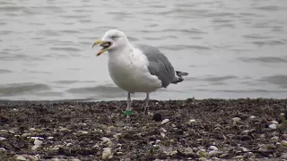
M1 160L287 160L287 99L2 102Z

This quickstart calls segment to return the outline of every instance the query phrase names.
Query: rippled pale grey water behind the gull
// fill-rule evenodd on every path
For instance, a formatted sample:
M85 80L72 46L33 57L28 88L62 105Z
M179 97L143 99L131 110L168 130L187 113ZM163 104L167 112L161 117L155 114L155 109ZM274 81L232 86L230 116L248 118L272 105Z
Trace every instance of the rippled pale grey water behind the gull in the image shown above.
M0 99L126 99L91 48L110 29L189 72L152 99L287 97L286 14L286 0L2 0Z

